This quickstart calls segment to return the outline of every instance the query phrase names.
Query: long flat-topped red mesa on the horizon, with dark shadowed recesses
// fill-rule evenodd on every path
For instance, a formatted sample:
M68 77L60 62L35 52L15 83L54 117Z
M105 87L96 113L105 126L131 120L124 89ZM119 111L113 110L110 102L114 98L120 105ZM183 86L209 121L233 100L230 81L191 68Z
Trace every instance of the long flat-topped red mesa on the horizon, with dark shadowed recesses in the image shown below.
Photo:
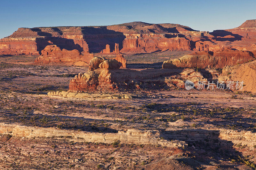
M123 52L132 53L151 52L152 49L187 50L191 49L191 37L201 36L197 32L179 24L143 22L113 26L19 28L12 35L0 40L0 54L40 55L41 50L51 44L79 52L111 53L113 50L116 54L122 48Z

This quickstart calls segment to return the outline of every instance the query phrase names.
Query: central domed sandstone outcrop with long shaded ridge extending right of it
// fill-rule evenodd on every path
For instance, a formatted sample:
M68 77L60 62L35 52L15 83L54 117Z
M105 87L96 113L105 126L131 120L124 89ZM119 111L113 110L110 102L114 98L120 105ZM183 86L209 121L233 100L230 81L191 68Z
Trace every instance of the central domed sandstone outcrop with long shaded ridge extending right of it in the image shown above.
M79 73L70 80L69 90L184 88L184 79L189 78L194 83L206 80L194 69L121 69L125 65L126 60L122 55L117 55L115 59L94 57L86 73Z

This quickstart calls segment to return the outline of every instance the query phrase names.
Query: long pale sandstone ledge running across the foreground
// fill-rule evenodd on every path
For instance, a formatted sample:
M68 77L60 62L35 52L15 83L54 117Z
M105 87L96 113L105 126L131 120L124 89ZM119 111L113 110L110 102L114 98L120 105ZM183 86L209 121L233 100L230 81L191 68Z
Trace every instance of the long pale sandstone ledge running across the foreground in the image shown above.
M111 144L119 141L122 144L160 144L167 147L188 147L183 141L195 142L212 139L222 142L231 141L253 147L256 144L256 134L251 131L236 131L229 129L168 129L167 133L157 130L128 129L118 133L96 133L57 128L28 127L18 124L0 124L0 133L16 137L72 137L72 141L98 142ZM169 141L161 138L172 138Z

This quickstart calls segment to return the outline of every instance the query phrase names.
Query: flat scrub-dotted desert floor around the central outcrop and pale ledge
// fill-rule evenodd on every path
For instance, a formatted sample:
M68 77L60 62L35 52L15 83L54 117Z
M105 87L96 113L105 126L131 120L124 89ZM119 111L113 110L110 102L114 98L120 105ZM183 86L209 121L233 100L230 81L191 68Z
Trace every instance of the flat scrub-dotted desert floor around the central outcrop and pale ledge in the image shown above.
M161 68L163 61L188 53L163 52L125 58L131 69ZM95 92L98 96L105 93L144 96L136 99L109 99L95 97L93 93L92 97L82 99L51 96L47 93L67 91L69 80L88 68L39 66L33 64L34 60L34 56L0 57L1 123L95 133L156 130L161 138L185 141L188 147L1 134L1 169L255 168L256 145L218 139L219 129L256 132L256 100L250 92L163 89ZM217 137L204 136L210 133Z

